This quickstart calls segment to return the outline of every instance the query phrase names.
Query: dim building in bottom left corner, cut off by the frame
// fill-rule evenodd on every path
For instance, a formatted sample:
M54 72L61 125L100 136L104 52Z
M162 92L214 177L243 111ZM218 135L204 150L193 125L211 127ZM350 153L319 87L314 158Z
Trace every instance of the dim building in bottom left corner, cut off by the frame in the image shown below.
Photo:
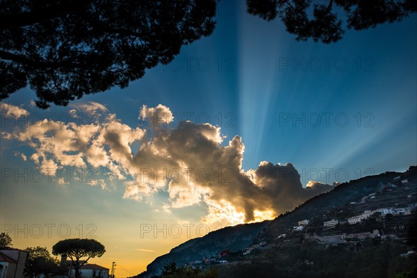
M0 249L0 278L22 278L27 256L22 250Z

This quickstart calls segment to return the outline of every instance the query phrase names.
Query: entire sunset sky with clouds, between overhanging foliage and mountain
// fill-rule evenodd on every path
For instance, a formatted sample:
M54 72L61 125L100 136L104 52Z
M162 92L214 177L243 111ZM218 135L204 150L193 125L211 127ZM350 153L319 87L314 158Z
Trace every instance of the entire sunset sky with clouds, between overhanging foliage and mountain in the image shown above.
M275 218L417 164L417 17L335 44L218 4L212 35L128 88L42 111L0 104L0 224L13 247L95 238L129 277L184 241Z

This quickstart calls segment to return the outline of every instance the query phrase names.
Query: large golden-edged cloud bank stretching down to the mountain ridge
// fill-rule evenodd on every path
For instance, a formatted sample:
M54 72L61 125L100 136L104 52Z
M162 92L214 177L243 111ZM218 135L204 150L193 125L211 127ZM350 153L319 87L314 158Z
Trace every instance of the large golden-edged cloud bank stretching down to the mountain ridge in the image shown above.
M172 127L174 117L161 104L140 110L149 131L122 124L101 104L80 104L70 113L80 111L95 120L88 124L43 120L3 138L31 146L30 158L41 170L104 168L107 182L122 181L124 198L142 201L165 191L168 199L162 211L205 204L208 214L203 220L208 223L271 219L332 188L315 182L303 188L291 163L263 161L255 170L245 171L240 136L225 143L220 127L212 124L185 121ZM136 142L140 147L133 153ZM88 183L106 188L102 178Z

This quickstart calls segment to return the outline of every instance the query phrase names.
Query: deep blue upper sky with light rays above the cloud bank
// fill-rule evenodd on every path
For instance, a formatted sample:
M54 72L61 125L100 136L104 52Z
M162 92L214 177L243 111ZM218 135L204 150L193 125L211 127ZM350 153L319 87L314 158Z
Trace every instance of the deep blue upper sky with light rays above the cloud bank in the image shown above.
M295 42L281 22L232 3L220 3L213 35L183 47L170 65L82 100L104 104L131 126L142 104L220 124L228 138L243 137L245 169L271 161L384 172L416 163L415 15L326 45ZM19 92L6 102L30 99Z

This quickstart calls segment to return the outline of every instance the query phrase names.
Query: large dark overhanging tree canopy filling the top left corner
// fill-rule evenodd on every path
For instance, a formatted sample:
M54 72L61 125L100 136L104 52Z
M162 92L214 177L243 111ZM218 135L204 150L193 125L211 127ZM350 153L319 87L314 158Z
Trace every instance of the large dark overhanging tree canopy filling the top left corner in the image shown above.
M215 0L0 0L0 99L35 90L40 108L124 88L210 35Z

